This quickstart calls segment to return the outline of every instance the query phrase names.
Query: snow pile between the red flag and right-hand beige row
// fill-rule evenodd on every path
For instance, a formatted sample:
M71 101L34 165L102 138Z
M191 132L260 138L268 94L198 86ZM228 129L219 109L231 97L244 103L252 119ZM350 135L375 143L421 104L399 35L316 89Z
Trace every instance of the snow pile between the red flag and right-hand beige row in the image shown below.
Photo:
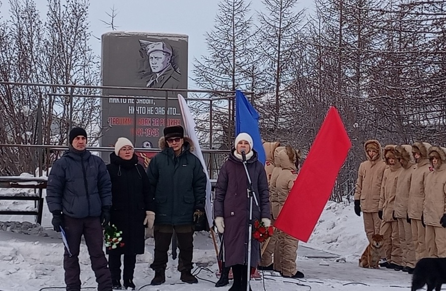
M357 261L368 243L363 218L355 214L353 205L329 201L310 240L301 245L335 253L351 262Z

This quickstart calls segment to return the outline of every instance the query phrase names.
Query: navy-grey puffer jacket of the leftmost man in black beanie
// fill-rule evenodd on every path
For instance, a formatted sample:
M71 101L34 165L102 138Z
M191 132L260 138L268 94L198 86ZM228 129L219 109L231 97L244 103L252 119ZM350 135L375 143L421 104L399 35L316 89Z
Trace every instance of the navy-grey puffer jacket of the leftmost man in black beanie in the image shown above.
M50 212L73 218L100 216L111 206L111 182L104 161L88 150L66 150L51 169L47 184Z

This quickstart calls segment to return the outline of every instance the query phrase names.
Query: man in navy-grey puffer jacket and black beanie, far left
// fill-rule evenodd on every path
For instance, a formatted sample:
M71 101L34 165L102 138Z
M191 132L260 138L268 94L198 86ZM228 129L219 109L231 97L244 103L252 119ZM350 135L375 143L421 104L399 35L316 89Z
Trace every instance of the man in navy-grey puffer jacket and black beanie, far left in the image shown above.
M79 248L82 235L88 247L98 291L111 291L111 274L103 251L103 226L110 222L111 181L104 161L86 150L87 133L73 128L69 149L50 172L47 203L56 232L63 228L70 253L65 248L63 268L67 291L80 291Z

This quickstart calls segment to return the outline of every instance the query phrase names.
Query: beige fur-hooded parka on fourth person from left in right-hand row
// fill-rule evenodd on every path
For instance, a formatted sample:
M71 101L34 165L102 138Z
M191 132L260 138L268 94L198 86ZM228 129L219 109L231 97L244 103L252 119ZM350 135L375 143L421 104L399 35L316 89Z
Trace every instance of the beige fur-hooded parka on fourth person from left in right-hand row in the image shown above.
M412 145L412 153L418 152L421 157L416 161L415 170L412 173L410 182L409 204L407 213L410 219L421 220L424 204L424 180L430 173L430 163L428 150L432 145L428 143L416 142Z

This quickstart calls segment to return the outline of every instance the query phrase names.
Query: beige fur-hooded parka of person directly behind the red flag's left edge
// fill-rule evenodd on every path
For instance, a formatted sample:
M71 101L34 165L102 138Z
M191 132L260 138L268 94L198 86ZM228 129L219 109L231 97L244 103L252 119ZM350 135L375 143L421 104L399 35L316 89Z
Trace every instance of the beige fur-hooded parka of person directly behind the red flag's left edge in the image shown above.
M279 152L280 167L282 171L279 173L276 183L276 191L279 198L279 213L285 204L286 197L288 197L291 188L293 188L294 180L297 177L297 169L294 164L299 158L297 151L291 146L287 145L285 150Z

